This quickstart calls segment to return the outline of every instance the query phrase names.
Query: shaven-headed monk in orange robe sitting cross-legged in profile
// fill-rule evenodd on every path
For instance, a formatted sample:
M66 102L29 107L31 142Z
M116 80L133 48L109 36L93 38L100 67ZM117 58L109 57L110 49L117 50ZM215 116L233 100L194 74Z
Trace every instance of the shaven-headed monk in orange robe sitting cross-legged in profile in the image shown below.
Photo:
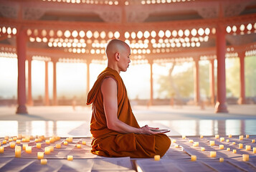
M113 39L105 49L108 67L98 76L87 96L93 115L90 132L93 135L91 152L98 156L153 158L163 156L171 140L163 133L140 127L131 109L120 72L131 62L131 49L123 41Z

